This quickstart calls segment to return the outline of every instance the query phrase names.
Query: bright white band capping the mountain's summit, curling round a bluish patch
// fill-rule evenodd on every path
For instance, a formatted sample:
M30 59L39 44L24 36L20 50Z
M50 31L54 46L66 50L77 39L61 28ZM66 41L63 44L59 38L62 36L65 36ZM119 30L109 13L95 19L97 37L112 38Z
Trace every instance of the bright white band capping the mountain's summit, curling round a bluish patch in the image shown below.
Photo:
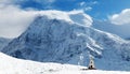
M62 19L68 23L79 24L87 27L90 27L93 23L91 16L87 15L82 11L62 12L62 11L52 10L52 11L41 11L35 13L41 16L44 15L50 19Z

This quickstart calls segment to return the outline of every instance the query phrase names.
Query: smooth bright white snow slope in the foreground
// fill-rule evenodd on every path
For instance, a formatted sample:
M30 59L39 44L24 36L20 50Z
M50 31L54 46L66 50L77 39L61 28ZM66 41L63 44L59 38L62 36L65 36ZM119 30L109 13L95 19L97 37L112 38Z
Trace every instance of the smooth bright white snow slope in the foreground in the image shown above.
M130 74L121 71L90 70L83 66L21 60L0 53L0 74Z

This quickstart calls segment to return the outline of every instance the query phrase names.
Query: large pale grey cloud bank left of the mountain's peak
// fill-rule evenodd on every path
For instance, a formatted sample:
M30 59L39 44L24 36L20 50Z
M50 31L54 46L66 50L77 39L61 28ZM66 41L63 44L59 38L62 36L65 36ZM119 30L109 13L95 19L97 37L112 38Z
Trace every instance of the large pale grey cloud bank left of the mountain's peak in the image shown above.
M32 20L32 14L8 5L0 8L0 36L14 38L20 35Z

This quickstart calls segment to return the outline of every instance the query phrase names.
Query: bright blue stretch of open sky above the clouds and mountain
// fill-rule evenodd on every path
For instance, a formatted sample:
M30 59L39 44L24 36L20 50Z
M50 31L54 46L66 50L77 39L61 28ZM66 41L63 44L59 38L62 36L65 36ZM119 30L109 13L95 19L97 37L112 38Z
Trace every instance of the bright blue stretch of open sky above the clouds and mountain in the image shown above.
M130 8L130 0L17 0L21 8L36 10L83 10L96 19L107 19L109 15ZM102 15L102 16L101 16Z

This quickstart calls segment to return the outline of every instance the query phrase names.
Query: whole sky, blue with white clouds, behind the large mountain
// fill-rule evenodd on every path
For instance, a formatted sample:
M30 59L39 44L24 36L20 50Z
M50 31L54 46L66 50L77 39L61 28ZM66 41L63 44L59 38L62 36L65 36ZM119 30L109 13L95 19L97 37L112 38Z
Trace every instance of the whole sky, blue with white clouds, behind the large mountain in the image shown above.
M130 0L0 0L0 36L20 35L32 20L28 12L44 10L83 11L93 19L110 23L95 28L130 38Z

